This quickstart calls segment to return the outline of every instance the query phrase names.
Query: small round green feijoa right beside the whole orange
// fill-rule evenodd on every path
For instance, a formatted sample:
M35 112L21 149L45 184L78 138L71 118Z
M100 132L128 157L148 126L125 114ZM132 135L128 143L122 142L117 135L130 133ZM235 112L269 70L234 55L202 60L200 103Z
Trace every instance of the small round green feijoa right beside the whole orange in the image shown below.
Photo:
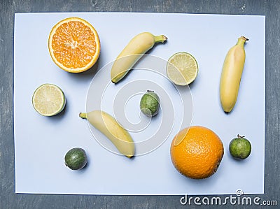
M246 159L251 154L251 143L244 136L237 136L230 142L230 154L235 159Z

